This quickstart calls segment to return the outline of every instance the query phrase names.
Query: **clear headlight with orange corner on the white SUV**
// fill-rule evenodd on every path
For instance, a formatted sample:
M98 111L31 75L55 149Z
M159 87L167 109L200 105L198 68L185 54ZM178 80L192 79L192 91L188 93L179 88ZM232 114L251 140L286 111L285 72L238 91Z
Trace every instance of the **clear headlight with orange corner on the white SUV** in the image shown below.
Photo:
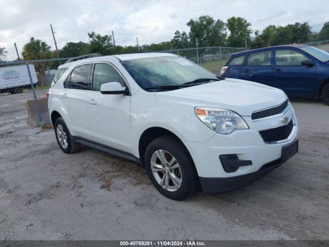
M196 116L210 129L229 134L234 130L249 129L243 118L230 110L221 108L196 107Z

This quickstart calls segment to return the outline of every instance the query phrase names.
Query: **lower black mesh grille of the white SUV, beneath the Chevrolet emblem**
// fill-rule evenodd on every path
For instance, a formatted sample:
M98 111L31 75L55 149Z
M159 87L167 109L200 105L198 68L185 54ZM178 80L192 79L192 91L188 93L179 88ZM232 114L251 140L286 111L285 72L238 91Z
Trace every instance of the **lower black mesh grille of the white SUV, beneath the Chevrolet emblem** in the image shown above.
M273 142L278 142L279 140L287 139L291 131L293 131L293 128L294 128L294 122L293 119L291 119L291 121L285 126L269 129L269 130L263 130L260 131L259 133L261 134L265 143L273 143Z

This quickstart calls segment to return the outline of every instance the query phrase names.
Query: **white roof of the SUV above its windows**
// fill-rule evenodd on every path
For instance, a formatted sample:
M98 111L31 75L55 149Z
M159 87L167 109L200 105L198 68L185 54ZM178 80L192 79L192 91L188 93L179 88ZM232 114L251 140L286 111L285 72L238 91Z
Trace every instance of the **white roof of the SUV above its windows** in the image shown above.
M138 58L152 58L152 57L164 57L164 56L177 56L177 55L171 54L171 53L165 53L165 52L145 52L145 53L120 54L120 55L111 55L111 56L81 59L81 60L77 60L77 61L64 63L64 64L60 65L59 67L66 68L71 65L78 65L81 63L95 62L95 61L106 61L106 60L113 59L113 58L120 60L120 61L125 61L125 60L132 60L132 59L138 59Z

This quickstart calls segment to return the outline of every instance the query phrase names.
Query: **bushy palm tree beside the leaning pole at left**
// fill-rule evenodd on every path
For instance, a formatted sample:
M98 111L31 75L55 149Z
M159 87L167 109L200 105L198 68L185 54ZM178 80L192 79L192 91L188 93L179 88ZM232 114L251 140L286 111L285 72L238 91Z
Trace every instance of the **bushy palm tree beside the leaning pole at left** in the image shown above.
M24 45L22 55L24 60L48 59L51 58L50 46L31 37L30 42Z

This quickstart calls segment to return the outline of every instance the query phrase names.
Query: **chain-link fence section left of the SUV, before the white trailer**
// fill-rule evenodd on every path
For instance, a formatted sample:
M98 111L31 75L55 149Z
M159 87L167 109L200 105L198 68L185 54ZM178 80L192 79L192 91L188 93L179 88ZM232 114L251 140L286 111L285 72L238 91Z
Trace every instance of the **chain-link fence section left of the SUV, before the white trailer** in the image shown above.
M49 125L46 90L66 60L0 63L0 135L22 125L22 119L32 127Z

